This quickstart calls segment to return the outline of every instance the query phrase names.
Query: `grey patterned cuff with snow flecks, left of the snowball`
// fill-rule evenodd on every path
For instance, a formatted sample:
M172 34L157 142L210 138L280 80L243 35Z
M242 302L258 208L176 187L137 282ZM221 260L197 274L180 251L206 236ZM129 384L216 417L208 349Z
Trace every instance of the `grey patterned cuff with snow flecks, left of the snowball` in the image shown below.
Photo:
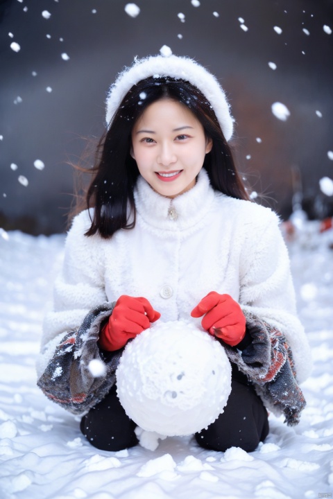
M97 344L101 325L113 308L110 303L93 308L78 328L65 333L37 381L51 401L74 414L82 414L96 405L115 382L122 350L103 352ZM99 361L99 376L89 369L92 360Z

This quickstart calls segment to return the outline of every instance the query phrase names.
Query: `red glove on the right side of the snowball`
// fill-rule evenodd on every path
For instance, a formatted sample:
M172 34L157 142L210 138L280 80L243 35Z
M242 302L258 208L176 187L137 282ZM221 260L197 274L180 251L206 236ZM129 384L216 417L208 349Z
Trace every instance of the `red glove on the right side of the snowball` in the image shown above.
M192 317L203 317L203 329L221 338L231 347L237 345L245 336L246 318L241 307L230 295L208 293L191 311Z

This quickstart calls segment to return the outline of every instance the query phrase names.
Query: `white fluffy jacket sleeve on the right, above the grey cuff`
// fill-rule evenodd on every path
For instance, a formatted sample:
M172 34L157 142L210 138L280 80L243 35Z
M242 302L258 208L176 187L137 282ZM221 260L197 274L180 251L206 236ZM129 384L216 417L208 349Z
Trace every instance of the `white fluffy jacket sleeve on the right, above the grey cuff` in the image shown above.
M258 210L257 216L260 214ZM244 313L256 315L282 333L293 353L301 383L311 371L311 351L296 314L289 255L278 223L275 213L268 211L264 223L254 218L247 225L241 256L240 304Z

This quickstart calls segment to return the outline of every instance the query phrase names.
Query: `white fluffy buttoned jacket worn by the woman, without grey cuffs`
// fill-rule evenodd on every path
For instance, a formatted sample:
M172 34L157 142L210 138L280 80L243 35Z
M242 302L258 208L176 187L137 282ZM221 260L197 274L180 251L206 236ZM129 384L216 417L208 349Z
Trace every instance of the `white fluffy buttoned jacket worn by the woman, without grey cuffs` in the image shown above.
M120 295L146 297L167 322L185 319L210 291L228 293L285 335L302 382L311 356L296 317L287 247L270 209L217 193L206 171L196 186L170 200L139 177L137 222L111 239L86 237L89 213L73 222L65 262L56 280L54 310L44 319L42 374L69 329L105 301Z

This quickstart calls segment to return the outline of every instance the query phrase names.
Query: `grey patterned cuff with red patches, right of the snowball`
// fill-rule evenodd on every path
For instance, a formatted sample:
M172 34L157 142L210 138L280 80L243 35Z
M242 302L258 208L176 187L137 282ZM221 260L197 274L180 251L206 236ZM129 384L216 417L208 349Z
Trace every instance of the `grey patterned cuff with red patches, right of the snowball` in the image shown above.
M296 425L305 398L296 380L291 349L278 329L251 313L245 315L252 342L243 351L225 344L228 358L248 376L272 412L284 414L287 425Z

